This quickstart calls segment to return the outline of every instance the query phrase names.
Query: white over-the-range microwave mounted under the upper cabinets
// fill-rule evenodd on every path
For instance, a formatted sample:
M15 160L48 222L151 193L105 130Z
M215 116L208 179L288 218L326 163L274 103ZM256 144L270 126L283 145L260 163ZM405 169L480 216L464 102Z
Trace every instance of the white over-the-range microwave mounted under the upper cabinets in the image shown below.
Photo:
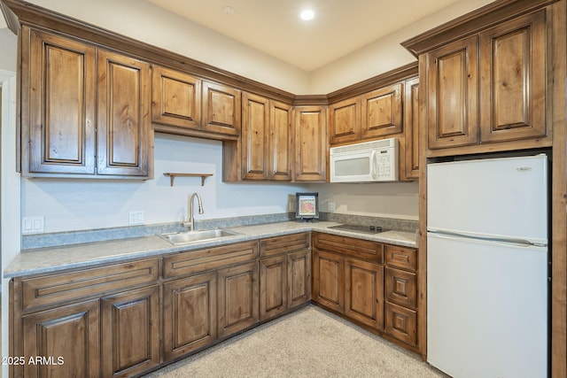
M398 181L398 140L331 147L330 182Z

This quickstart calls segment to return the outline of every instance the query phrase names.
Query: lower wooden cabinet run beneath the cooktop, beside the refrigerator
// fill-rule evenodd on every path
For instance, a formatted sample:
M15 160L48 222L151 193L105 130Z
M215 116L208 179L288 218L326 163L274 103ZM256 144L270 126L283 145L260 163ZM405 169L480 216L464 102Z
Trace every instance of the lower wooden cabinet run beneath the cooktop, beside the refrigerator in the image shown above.
M418 350L417 250L313 233L313 301Z

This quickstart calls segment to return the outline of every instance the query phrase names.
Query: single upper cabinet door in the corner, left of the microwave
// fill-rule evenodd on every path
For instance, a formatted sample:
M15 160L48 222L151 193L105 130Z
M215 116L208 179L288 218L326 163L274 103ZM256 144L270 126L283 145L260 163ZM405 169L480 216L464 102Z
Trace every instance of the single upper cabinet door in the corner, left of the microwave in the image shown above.
M295 109L295 181L327 179L327 108Z

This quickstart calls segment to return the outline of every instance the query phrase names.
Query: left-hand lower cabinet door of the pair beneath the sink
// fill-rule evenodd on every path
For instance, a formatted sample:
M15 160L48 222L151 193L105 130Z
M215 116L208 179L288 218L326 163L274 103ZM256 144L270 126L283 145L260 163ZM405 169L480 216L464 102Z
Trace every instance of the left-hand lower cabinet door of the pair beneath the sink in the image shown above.
M216 274L163 284L163 358L168 361L216 340Z

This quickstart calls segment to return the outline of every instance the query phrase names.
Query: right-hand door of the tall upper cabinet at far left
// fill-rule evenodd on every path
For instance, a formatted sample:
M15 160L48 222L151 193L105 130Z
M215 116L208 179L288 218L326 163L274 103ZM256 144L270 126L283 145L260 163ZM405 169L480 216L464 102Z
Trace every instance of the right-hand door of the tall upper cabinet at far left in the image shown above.
M97 173L151 175L150 65L98 51Z

